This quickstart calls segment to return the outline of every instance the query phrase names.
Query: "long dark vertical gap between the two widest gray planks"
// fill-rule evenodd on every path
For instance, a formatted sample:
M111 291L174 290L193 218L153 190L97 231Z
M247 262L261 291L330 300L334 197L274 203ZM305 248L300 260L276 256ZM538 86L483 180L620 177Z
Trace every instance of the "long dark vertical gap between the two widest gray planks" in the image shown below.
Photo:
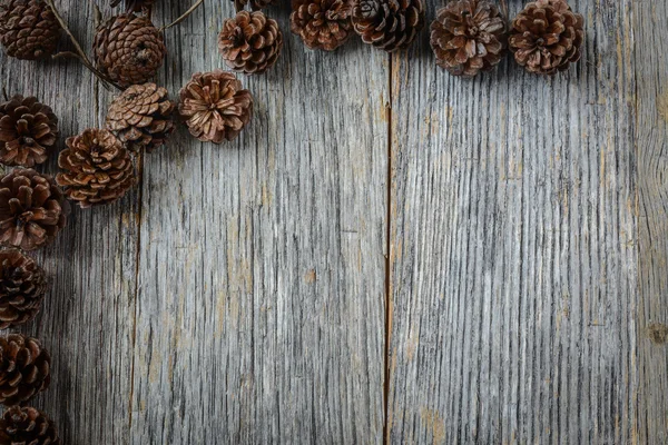
M392 55L387 55L387 102L385 103L385 119L387 119L387 212L386 233L385 233L385 354L383 359L384 378L383 382L383 444L390 443L390 429L387 423L390 419L390 338L392 336Z

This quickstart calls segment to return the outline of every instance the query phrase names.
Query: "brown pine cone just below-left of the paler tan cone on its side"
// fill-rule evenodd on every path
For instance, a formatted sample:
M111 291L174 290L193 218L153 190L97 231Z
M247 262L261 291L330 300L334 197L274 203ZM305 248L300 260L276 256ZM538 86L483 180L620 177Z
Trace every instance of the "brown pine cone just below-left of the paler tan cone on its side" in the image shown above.
M111 132L89 128L66 144L56 180L81 208L114 202L135 185L130 154Z

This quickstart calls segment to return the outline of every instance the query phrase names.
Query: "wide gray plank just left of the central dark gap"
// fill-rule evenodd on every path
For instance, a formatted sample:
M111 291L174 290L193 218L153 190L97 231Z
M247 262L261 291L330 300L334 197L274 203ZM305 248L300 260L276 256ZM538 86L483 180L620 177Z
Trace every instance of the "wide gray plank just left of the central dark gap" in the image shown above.
M158 21L186 4L158 6ZM173 95L224 68L233 13L207 0L167 33ZM285 4L250 126L219 147L180 129L147 156L131 442L379 443L387 57L307 50Z

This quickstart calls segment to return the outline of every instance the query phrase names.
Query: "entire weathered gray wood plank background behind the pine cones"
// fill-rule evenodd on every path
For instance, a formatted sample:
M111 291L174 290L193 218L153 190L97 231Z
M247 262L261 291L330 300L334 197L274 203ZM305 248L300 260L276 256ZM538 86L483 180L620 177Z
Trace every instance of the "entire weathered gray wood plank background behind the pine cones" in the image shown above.
M57 3L89 47L89 2ZM37 254L53 288L23 332L65 443L668 443L668 1L573 1L573 69L474 80L426 29L392 56L307 50L282 3L242 137L180 129ZM232 13L166 32L173 96L224 67ZM80 63L0 63L63 136L102 125L114 95Z

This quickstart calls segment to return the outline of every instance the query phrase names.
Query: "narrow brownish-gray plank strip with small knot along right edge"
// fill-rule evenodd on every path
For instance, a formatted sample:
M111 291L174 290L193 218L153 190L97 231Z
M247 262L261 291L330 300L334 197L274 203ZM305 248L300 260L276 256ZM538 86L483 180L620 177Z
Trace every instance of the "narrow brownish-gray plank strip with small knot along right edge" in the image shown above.
M668 443L668 2L633 1L639 443Z

